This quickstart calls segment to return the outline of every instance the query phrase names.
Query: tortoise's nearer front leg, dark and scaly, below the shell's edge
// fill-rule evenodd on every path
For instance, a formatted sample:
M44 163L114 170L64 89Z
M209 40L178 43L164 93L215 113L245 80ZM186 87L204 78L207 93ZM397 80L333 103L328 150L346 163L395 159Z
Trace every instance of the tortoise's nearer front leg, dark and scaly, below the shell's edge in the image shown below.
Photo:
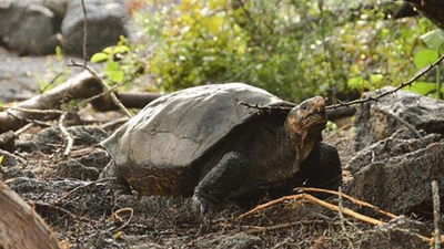
M245 179L249 167L239 152L226 153L194 189L193 208L202 214L214 210Z

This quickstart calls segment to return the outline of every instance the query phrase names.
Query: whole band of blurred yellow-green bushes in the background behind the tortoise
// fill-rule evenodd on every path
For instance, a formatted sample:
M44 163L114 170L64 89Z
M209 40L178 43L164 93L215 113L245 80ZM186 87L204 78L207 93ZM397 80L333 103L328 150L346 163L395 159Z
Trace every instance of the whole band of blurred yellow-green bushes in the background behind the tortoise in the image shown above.
M376 7L355 13L355 1L183 0L139 13L148 41L134 53L158 91L245 82L292 101L398 84L431 61L418 41L436 44L442 33L421 37L430 21L384 20L377 1L360 2Z

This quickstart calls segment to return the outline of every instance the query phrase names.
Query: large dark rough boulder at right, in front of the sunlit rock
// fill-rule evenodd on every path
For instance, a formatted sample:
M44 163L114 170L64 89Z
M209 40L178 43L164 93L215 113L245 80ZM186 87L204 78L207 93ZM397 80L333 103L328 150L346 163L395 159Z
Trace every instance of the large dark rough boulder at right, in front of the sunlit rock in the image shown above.
M444 139L440 138L436 134L421 139L386 138L363 151L352 159L350 167L356 173L347 193L396 214L431 204L432 180L444 186Z

